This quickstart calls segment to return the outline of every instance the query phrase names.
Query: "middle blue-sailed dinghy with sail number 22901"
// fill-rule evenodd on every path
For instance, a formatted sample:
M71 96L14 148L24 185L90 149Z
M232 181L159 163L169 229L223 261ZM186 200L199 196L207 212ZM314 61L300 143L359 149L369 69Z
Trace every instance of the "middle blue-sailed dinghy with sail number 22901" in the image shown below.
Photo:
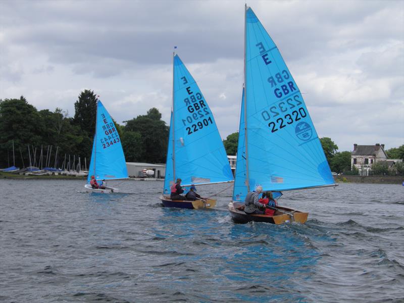
M182 186L233 182L223 141L209 105L181 59L173 54L173 104L162 203L166 207L212 208L215 199L171 200L177 178Z

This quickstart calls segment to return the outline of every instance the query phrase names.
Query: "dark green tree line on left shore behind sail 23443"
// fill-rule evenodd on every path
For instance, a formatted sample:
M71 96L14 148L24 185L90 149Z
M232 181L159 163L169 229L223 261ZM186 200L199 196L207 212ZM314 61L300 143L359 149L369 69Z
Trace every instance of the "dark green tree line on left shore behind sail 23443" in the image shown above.
M87 159L91 157L95 132L97 96L92 90L82 91L74 103L75 113L56 108L38 111L24 96L0 100L0 167L13 165L13 142L16 166L29 166L29 156L40 155L41 146L53 146L52 166L61 167L66 155ZM165 163L169 126L161 120L161 113L151 108L124 125L114 121L121 137L127 162ZM28 146L30 151L28 151ZM58 157L55 151L58 148ZM31 155L29 155L31 154ZM39 160L36 161L37 163ZM33 165L33 160L31 161Z

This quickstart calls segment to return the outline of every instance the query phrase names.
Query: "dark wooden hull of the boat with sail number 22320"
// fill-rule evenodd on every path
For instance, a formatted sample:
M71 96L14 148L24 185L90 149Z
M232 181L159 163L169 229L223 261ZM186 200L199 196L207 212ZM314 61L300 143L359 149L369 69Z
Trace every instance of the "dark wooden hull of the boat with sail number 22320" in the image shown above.
M268 215L247 215L244 213L244 203L232 202L228 205L227 209L231 214L231 218L234 223L247 223L250 221L266 222L272 224L283 224L289 222L299 222L301 224L306 223L309 213L299 212L286 207L277 207L279 210L288 212L285 214L280 211L275 211L274 216Z

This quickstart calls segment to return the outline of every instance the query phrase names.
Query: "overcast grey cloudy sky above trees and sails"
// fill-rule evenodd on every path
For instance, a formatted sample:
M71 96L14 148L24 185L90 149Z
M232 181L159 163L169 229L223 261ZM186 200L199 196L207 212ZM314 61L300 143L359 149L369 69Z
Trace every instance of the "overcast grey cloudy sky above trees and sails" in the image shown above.
M277 44L320 137L404 144L404 1L248 1ZM222 138L238 130L242 1L0 0L0 98L74 116L94 90L118 122L156 107L169 124L172 52Z

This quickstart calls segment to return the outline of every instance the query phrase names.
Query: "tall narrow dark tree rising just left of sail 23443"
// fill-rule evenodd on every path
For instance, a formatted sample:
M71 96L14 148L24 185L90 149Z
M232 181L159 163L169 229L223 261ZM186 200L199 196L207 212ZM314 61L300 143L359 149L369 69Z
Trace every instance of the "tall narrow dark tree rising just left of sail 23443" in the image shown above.
M97 96L94 91L85 89L74 103L73 123L86 131L89 136L95 132L95 119L97 113Z

